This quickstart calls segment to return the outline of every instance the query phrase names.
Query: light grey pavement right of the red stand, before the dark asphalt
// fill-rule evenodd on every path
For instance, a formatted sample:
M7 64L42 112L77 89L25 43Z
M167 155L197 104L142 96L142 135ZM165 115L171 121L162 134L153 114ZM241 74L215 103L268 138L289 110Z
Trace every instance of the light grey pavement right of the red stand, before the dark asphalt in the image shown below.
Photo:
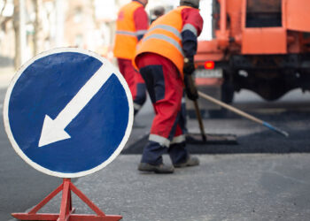
M309 156L198 157L198 167L158 175L136 170L140 156L120 155L74 185L124 221L309 220ZM76 195L73 202L76 213L93 213ZM59 204L60 195L42 212L58 213Z

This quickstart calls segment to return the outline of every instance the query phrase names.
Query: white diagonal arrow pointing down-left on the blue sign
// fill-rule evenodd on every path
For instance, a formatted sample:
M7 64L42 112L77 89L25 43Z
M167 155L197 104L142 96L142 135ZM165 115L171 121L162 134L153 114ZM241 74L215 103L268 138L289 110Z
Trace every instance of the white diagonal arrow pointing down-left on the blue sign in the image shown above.
M39 148L56 141L63 141L71 138L66 133L65 128L80 113L80 111L89 103L91 98L97 94L99 89L105 84L112 72L105 72L102 65L97 72L86 82L74 98L66 104L64 110L61 110L57 118L51 119L45 115Z

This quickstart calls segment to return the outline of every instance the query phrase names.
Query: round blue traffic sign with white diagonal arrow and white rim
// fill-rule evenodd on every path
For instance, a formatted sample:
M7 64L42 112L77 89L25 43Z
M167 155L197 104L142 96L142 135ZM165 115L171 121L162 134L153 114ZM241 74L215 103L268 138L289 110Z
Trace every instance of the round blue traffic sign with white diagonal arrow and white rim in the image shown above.
M120 154L133 124L128 85L105 58L56 49L23 65L4 100L13 148L38 171L88 175Z

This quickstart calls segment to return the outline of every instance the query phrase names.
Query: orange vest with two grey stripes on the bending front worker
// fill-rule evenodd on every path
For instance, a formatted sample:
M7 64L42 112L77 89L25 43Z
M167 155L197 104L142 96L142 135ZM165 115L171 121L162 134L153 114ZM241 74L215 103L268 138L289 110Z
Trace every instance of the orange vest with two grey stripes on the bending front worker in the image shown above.
M181 6L156 19L136 49L136 57L144 52L152 52L167 57L183 76L184 54L182 50L181 11L189 6ZM136 65L136 58L134 61Z

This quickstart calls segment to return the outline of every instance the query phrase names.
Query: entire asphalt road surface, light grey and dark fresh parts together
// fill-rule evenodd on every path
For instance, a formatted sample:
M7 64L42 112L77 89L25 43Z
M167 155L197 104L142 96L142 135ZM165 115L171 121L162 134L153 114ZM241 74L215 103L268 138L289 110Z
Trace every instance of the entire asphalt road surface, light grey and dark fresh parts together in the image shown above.
M4 89L1 104L3 97ZM142 174L136 171L139 154L120 155L74 184L106 214L120 214L123 220L309 220L309 98L294 91L266 103L252 93L236 95L237 107L288 131L289 139L234 114L205 118L206 133L234 133L238 145L190 146L201 165L168 176ZM136 118L145 127L134 128L127 148L141 145L151 116L149 103ZM2 118L1 122L0 220L9 220L11 212L33 207L61 180L24 163L6 138ZM189 129L198 133L196 120L190 119ZM59 196L43 211L58 212L58 207ZM91 212L76 197L74 207L78 213Z

